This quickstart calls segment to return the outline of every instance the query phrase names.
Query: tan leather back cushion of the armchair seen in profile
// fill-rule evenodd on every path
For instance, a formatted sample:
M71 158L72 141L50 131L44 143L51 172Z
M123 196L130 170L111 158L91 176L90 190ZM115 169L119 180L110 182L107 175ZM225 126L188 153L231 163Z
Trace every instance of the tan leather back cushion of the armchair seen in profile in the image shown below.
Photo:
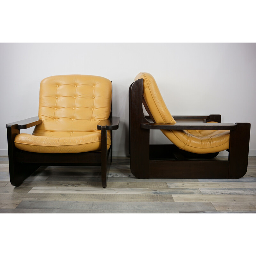
M164 103L154 77L149 73L139 73L134 81L140 78L143 79L143 97L156 123L175 124L176 122Z

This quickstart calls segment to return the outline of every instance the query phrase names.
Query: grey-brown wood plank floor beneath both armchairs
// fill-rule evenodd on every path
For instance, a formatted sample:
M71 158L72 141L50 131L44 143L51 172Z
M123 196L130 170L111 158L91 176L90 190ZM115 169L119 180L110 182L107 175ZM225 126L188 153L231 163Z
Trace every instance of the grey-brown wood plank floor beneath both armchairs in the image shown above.
M140 180L115 157L107 188L95 166L42 166L15 188L2 156L0 213L256 213L256 156L238 180Z

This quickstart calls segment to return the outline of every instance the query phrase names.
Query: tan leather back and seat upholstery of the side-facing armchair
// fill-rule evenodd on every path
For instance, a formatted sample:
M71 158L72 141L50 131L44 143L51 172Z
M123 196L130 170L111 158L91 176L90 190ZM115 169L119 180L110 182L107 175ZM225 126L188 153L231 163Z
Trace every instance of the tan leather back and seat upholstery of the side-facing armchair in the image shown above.
M156 81L149 73L139 73L135 81L143 78L143 97L156 123L175 124L167 109ZM229 147L229 133L226 130L161 130L180 149L198 153L215 153Z

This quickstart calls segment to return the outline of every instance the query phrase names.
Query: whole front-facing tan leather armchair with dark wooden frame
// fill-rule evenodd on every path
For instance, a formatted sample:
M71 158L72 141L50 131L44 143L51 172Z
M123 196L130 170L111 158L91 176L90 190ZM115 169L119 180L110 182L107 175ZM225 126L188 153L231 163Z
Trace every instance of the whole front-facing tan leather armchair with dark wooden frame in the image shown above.
M7 124L10 180L19 186L41 165L101 165L107 186L112 161L112 83L100 76L50 76L41 81L38 117ZM35 126L33 134L21 129Z

